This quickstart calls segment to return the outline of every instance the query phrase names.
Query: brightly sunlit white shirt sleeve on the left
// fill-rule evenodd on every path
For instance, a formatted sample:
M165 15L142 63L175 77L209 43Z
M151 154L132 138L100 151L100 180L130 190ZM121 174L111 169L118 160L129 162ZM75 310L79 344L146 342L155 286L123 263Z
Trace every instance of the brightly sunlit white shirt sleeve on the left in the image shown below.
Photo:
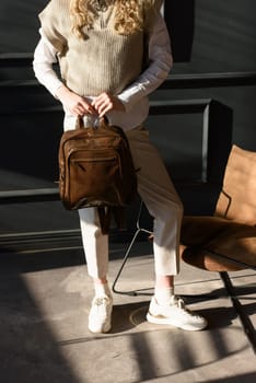
M56 97L56 91L63 83L55 72L53 65L57 62L57 50L46 38L43 31L34 53L33 69L37 80Z

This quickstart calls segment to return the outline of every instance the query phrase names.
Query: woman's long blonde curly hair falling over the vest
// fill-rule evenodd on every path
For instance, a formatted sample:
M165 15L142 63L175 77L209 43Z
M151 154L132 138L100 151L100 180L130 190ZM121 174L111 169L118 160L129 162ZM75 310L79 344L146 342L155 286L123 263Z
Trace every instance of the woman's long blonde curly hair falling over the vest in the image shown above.
M154 0L105 0L107 4L115 4L114 30L120 35L129 35L141 31L144 25L144 11L152 7ZM97 13L93 7L95 0L70 0L72 32L83 38L84 28L92 27Z

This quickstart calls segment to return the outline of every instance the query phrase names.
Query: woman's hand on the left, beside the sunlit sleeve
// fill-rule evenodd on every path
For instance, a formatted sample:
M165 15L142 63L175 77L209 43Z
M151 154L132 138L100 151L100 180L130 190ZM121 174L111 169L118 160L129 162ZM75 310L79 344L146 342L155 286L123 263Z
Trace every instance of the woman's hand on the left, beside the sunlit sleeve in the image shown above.
M65 109L68 109L73 116L83 116L85 114L95 115L96 111L85 98L71 92L67 86L60 86L56 96L62 103Z

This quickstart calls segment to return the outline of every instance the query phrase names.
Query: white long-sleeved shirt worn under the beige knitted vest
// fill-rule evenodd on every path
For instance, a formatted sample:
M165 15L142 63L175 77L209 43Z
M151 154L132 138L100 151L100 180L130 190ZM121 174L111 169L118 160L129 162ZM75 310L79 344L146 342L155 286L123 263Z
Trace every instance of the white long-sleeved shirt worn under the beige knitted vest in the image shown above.
M33 68L37 80L54 95L63 83L55 72L53 65L57 62L57 49L39 30L40 39L34 53ZM159 14L149 36L149 67L141 76L126 88L118 98L124 103L126 112L107 113L110 124L130 130L141 125L149 114L148 95L158 89L166 79L172 65L171 44L163 18ZM93 97L86 97L93 100ZM70 115L71 116L71 115ZM69 112L66 111L66 118Z

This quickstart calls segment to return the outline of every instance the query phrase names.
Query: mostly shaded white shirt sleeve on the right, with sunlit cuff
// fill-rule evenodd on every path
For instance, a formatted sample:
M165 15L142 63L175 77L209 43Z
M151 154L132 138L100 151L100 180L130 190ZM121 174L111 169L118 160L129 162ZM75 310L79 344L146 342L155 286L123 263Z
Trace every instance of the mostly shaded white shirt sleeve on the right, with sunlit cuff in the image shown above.
M118 97L129 111L135 103L156 90L173 66L171 42L163 18L159 14L149 37L149 67Z

